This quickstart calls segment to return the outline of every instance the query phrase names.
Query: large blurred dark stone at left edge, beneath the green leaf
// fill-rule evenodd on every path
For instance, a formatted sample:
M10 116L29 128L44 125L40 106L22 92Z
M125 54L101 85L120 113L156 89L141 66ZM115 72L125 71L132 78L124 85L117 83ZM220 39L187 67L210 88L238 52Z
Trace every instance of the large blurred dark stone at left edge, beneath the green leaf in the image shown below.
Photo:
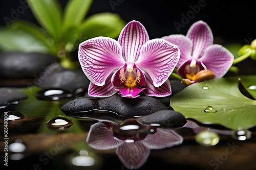
M58 59L50 54L36 52L1 52L0 77L8 79L36 78Z

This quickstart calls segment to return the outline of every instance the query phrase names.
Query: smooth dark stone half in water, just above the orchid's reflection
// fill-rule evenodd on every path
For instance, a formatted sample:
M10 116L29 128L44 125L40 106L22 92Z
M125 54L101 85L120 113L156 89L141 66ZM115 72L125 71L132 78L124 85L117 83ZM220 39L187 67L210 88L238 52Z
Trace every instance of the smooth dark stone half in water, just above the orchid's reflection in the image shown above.
M142 124L159 124L168 128L182 127L187 123L186 118L174 110L160 110L150 115L138 117L137 120Z

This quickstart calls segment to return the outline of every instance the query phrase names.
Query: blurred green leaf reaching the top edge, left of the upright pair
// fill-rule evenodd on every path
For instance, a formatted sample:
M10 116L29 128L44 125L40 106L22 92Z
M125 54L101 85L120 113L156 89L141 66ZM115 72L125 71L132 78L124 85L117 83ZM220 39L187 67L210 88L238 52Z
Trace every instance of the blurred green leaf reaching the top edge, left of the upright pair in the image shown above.
M58 41L61 28L61 6L57 0L27 0L32 13L42 27L44 27Z

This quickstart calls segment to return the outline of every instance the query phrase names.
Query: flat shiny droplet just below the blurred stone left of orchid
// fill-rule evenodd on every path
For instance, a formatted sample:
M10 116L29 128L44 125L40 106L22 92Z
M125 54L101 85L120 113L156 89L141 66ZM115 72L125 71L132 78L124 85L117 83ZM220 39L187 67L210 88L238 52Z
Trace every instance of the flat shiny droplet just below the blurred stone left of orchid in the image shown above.
M45 101L57 101L63 98L70 98L72 96L74 96L72 92L63 89L44 89L35 93L35 97L38 100Z

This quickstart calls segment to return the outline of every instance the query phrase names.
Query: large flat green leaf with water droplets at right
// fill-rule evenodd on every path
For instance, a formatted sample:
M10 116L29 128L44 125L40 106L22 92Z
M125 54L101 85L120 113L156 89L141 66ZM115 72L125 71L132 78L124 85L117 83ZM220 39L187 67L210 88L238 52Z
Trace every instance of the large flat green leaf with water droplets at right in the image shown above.
M254 127L256 126L256 101L240 92L239 78L247 89L256 85L256 75L195 83L173 95L170 106L186 118L193 118L203 124L222 125L235 130L240 127L243 129ZM255 96L254 91L251 94ZM205 112L208 106L213 110Z

